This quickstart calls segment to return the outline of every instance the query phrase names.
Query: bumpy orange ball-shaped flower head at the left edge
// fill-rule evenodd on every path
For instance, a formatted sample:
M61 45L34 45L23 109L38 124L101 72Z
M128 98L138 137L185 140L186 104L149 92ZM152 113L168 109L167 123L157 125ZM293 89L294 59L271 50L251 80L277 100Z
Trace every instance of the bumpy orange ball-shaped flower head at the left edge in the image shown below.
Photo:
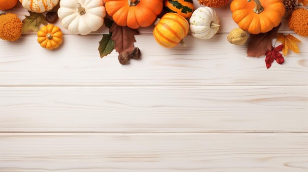
M21 36L23 23L16 14L0 15L0 38L6 41L16 41Z

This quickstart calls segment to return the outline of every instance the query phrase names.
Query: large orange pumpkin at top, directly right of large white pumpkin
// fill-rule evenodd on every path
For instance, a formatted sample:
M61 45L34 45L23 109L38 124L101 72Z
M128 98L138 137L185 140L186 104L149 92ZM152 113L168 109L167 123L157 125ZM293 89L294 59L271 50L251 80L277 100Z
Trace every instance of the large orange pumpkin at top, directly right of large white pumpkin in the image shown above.
M162 0L104 0L116 24L130 28L147 27L162 11Z

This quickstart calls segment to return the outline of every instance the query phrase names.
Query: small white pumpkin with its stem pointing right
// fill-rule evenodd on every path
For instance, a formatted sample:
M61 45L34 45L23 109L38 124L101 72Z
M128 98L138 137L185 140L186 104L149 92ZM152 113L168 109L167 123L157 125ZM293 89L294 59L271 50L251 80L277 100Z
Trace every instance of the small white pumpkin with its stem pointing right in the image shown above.
M210 39L219 30L219 18L210 7L199 7L189 20L190 31L193 37L198 39Z

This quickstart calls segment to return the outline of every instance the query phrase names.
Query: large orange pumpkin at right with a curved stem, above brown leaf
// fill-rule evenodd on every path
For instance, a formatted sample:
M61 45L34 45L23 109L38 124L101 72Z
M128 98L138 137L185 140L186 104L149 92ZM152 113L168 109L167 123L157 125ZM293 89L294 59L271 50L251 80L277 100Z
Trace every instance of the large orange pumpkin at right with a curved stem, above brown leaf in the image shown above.
M233 0L230 7L235 23L252 34L272 30L285 12L283 0Z

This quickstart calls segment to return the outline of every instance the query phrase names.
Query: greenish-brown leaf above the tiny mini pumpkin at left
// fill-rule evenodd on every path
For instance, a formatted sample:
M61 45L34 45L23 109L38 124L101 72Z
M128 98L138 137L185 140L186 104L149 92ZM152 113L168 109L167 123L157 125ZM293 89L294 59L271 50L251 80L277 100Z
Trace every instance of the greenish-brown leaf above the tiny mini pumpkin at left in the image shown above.
M41 24L48 25L45 16L42 13L34 13L28 11L30 16L25 16L26 18L23 20L23 30L22 32L28 32L30 30L39 31L39 26Z

